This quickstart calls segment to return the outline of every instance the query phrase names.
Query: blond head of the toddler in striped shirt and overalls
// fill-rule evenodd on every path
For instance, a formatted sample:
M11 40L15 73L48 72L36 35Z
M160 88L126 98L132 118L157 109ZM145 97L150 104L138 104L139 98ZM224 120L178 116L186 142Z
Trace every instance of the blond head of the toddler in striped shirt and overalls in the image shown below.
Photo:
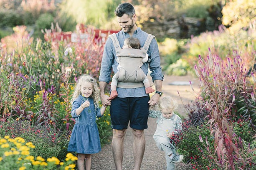
M177 109L177 103L171 96L163 96L159 101L159 108L164 118L171 118L173 111Z

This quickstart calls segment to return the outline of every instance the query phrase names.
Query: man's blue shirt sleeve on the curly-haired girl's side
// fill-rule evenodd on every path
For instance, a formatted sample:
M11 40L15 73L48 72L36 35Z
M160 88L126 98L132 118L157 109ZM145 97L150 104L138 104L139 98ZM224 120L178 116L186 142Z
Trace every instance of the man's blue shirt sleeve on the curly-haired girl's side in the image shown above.
M112 72L112 64L114 62L114 54L112 49L112 39L108 38L104 47L104 52L101 60L101 71L99 81L109 83Z

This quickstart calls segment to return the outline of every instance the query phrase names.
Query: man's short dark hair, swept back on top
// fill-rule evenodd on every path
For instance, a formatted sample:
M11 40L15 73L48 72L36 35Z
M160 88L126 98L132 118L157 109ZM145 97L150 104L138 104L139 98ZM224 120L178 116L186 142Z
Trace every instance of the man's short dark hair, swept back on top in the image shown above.
M135 9L130 3L119 4L115 10L117 17L122 17L124 14L127 14L131 19L135 14Z

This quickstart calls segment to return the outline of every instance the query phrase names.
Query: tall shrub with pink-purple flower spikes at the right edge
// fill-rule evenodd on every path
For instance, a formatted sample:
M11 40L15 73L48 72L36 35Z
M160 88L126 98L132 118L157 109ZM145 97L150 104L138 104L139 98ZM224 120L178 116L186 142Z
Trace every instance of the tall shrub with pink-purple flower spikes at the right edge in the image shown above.
M245 99L249 103L246 105L247 111L246 114L243 114L243 118L253 116L251 118L255 120L255 106L251 105L255 102L255 98L253 98L255 83L251 84L246 81L247 72L243 66L243 61L238 53L233 53L233 60L227 58L225 62L219 56L212 55L210 49L209 55L205 59L199 56L198 65L195 65L195 72L199 77L203 92L201 100L210 111L208 121L210 133L215 138L215 151L211 154L217 154L218 159L215 159L215 163L218 167L232 170L244 169L253 160L253 149L249 146L244 148L245 143L236 138L233 131L232 118L236 119L241 111L240 108L237 110L234 107L236 99ZM251 96L243 96L248 93Z

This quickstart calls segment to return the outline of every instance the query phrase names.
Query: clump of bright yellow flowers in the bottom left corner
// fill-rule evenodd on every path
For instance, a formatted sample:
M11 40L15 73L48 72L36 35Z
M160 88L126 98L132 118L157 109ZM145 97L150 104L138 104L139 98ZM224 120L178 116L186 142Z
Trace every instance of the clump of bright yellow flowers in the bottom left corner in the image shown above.
M55 156L44 159L41 156L30 155L35 148L32 142L25 142L21 137L0 137L0 168L1 170L69 170L76 167L77 157L68 153L62 162Z

